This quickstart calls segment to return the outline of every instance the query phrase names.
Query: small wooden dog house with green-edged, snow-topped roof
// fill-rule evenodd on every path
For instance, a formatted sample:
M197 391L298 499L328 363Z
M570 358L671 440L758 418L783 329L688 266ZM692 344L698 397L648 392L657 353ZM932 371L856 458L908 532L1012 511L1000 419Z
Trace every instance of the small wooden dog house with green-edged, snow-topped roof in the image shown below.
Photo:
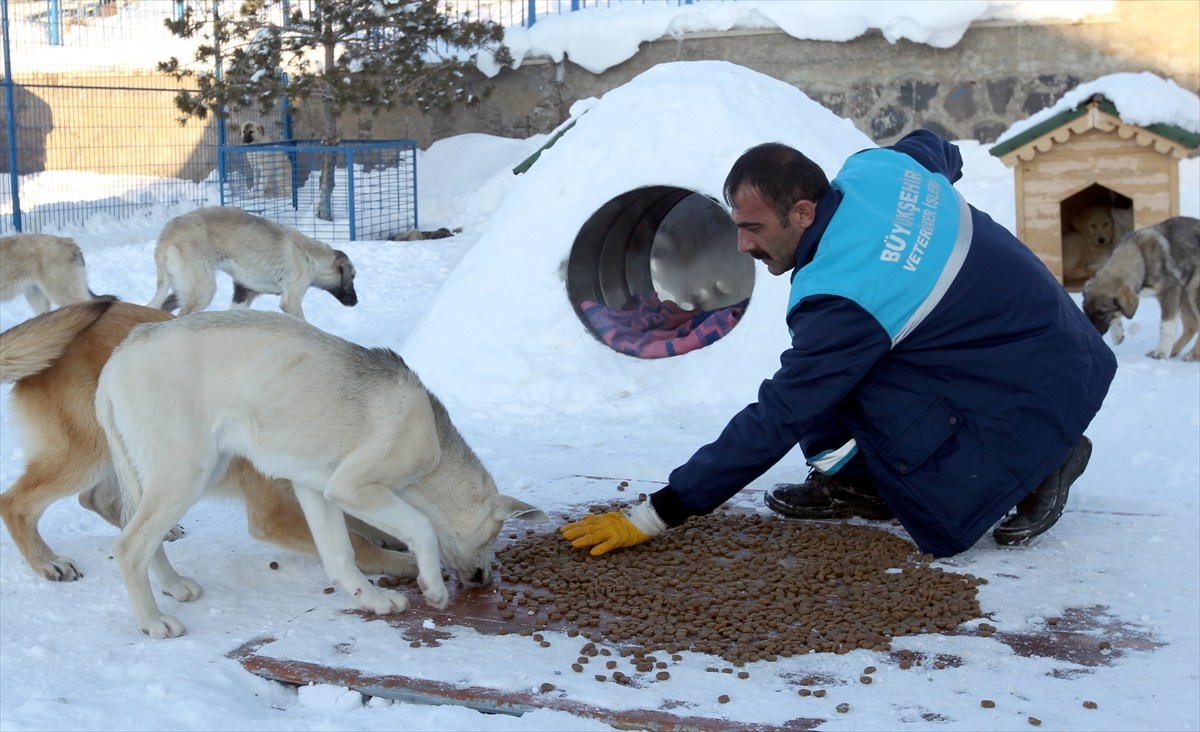
M1200 146L1200 134L1174 125L1139 127L1121 120L1104 96L1061 112L990 152L1013 168L1016 235L1068 288L1078 288L1103 264L1123 233L1180 214L1178 161ZM1072 240L1074 217L1106 208L1115 224L1106 251L1082 262ZM1097 245L1099 246L1099 245Z

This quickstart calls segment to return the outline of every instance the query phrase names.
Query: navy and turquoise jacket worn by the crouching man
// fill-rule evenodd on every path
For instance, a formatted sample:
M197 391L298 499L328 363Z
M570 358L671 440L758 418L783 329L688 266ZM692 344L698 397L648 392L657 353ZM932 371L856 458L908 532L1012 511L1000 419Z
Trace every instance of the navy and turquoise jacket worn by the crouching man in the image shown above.
M650 497L668 526L797 444L814 462L830 424L935 556L970 548L1062 462L1116 359L1028 247L961 199L961 168L928 131L846 162L797 247L792 344L758 401Z

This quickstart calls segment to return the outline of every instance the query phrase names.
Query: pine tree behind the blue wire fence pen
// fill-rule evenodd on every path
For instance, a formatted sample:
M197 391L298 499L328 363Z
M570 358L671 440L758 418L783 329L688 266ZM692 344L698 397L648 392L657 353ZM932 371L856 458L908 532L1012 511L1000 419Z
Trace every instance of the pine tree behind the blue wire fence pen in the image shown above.
M438 0L292 0L282 20L271 0L244 0L232 14L222 14L222 5L188 4L167 20L174 35L202 40L194 64L178 58L158 64L158 71L196 86L175 97L181 122L212 114L223 124L245 109L270 114L287 101L296 115L319 114L322 144L337 145L343 112L472 104L491 91L466 89L475 55L511 61L502 26L469 13L452 16L452 6L439 12ZM325 155L317 216L326 221L334 164Z

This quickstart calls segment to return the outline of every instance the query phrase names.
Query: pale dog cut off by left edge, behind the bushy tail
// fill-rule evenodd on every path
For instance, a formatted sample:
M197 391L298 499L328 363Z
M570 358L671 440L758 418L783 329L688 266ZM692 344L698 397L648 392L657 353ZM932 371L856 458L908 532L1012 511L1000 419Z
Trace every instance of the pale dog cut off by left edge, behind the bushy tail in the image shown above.
M13 234L0 236L0 301L24 294L36 314L50 306L83 302L88 289L83 252L66 236Z

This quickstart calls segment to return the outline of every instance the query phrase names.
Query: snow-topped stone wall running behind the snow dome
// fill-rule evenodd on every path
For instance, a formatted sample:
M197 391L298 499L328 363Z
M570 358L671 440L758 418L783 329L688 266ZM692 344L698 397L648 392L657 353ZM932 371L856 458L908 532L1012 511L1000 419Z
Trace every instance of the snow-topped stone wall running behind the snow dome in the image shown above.
M493 79L479 74L472 83L494 90L470 109L346 119L342 131L413 138L422 149L466 132L528 137L558 126L577 100L601 96L656 64L692 60L727 60L793 84L880 144L918 127L990 143L1100 76L1150 71L1200 90L1200 2L1118 0L1112 13L1084 23L979 23L946 49L889 43L878 31L847 42L800 41L781 31L691 35L644 43L600 74L569 59L526 61ZM298 134L316 130L301 119Z

